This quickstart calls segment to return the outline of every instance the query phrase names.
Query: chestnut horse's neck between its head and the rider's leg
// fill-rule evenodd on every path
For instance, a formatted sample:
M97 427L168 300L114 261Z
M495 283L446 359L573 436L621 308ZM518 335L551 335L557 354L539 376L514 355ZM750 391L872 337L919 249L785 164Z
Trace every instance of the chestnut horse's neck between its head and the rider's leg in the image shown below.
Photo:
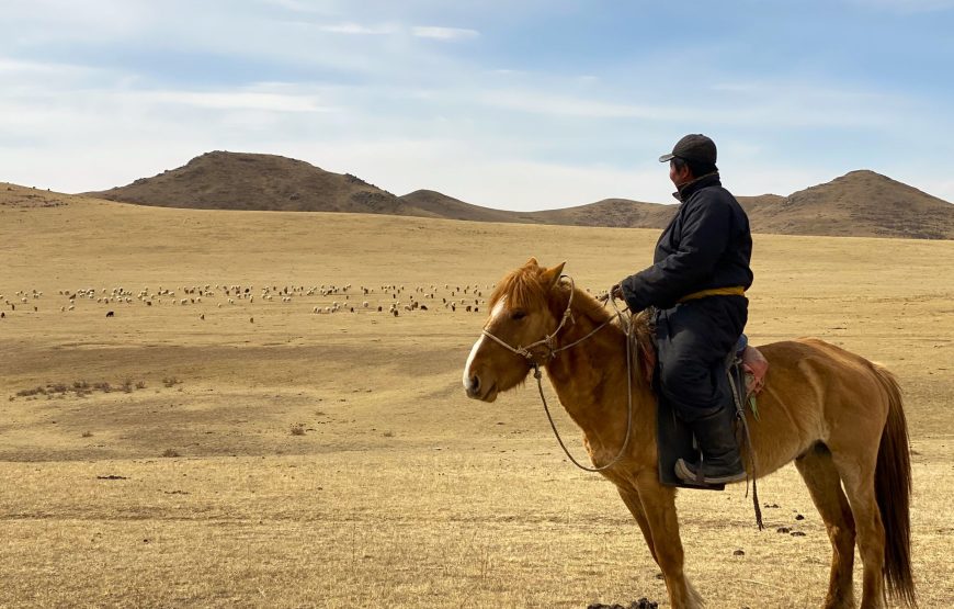
M580 340L603 323L579 312L575 312L573 319L561 332L560 346ZM641 418L639 410L646 388L635 364L634 354L633 370L629 371L634 417ZM547 363L546 370L564 408L590 442L617 442L620 430L616 428L622 424L625 429L629 405L626 337L620 328L610 324L579 345L560 351Z

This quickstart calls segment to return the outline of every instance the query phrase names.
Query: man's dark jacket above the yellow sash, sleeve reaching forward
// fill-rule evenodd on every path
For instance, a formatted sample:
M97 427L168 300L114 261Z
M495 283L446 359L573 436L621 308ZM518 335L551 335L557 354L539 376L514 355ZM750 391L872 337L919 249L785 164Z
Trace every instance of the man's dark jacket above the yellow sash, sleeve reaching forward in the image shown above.
M688 294L752 284L749 218L717 173L678 193L675 217L656 244L654 264L621 282L631 311L669 308Z

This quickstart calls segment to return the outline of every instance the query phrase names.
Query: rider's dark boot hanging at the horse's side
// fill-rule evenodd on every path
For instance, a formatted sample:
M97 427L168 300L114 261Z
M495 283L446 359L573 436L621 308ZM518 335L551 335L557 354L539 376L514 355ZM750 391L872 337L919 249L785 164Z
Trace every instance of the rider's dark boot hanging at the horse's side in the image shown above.
M703 486L746 480L735 429L736 413L730 405L696 419L689 426L702 451L702 463L675 462L675 475L689 484ZM700 467L702 472L700 475Z

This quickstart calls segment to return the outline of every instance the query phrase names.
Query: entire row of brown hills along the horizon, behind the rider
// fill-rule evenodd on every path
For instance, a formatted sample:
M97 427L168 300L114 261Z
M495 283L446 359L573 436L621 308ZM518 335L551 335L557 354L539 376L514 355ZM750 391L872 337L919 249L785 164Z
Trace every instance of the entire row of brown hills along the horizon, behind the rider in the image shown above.
M351 212L476 222L662 228L677 205L606 199L512 212L433 190L395 196L349 173L274 155L215 151L132 184L87 193L111 201L216 210ZM738 196L752 230L781 235L954 239L954 205L873 171L852 171L788 196Z

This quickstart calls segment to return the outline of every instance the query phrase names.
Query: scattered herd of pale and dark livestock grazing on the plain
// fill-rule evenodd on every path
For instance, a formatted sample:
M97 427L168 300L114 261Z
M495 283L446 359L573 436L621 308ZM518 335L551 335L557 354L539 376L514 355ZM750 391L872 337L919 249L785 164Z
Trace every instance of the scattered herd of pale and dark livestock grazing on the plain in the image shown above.
M314 315L332 314L382 314L397 317L401 314L427 314L428 312L480 313L486 308L486 295L492 285L438 284L405 286L382 284L377 286L352 284L322 285L245 285L205 284L164 287L143 287L133 291L117 287L79 287L57 290L44 294L39 290L16 290L12 295L0 293L0 318L26 313L58 312L70 314L77 309L99 307L106 317L122 314L123 307L189 307L200 319L215 314L216 309L247 307L260 315L268 315L269 307L284 306ZM252 307L252 305L255 305ZM263 311L264 308L264 311ZM197 311L196 311L197 309ZM250 318L254 323L254 318Z

